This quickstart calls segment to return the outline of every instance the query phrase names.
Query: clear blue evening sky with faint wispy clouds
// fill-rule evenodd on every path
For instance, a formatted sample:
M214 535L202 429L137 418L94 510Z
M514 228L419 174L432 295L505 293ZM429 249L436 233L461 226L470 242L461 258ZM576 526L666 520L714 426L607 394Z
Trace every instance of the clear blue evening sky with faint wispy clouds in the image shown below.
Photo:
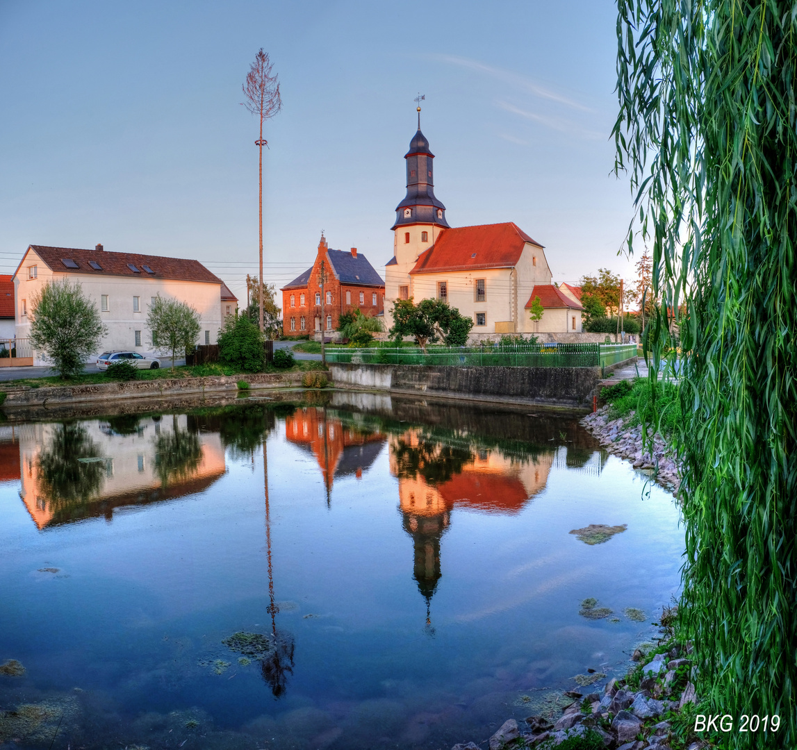
M0 272L28 244L195 257L241 297L257 273L257 49L283 111L265 137L265 262L278 285L321 229L378 271L422 130L452 226L514 221L554 280L617 256L614 4L0 0Z

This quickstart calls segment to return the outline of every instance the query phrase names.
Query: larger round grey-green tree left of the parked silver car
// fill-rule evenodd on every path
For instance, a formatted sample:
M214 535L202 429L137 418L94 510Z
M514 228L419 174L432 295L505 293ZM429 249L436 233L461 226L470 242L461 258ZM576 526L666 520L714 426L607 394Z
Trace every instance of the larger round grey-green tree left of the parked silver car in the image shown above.
M80 283L49 281L31 298L30 343L61 377L74 377L100 348L108 329Z

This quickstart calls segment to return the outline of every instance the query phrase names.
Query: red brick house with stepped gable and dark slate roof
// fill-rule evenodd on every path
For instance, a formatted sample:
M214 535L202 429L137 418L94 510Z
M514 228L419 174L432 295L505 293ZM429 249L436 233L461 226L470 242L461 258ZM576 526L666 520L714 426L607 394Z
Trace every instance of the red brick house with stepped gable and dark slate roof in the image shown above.
M327 280L324 283L324 318L321 320L321 262ZM324 235L318 244L316 261L311 268L281 287L282 330L285 336L300 336L335 330L344 312L361 310L381 315L385 309L385 283L367 258L357 248L330 250Z

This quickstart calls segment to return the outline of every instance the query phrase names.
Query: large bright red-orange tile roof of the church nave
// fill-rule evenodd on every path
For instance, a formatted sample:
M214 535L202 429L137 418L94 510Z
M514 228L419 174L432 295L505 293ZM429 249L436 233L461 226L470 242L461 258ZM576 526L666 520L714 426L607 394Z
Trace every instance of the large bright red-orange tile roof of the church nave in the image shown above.
M418 256L410 273L512 268L527 242L542 248L512 221L443 229L434 245Z

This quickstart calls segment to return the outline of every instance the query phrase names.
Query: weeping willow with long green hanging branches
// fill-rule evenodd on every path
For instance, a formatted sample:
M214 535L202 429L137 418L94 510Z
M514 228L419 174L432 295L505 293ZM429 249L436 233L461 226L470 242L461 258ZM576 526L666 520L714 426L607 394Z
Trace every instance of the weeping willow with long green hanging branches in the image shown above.
M654 252L646 356L680 370L698 694L781 721L736 748L797 747L795 19L783 0L618 0L615 170L628 247Z

